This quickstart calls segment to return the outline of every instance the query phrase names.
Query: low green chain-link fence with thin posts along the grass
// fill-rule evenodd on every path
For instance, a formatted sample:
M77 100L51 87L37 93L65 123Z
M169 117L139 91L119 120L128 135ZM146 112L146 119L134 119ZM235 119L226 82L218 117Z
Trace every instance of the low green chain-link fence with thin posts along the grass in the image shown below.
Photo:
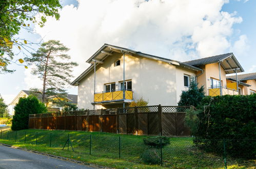
M17 143L73 150L80 154L120 158L136 163L145 163L143 156L151 152L159 165L166 167L255 168L255 139L195 140L191 137L171 137L170 144L152 149L144 144L144 138L146 136L43 130L1 131L0 136L0 139Z

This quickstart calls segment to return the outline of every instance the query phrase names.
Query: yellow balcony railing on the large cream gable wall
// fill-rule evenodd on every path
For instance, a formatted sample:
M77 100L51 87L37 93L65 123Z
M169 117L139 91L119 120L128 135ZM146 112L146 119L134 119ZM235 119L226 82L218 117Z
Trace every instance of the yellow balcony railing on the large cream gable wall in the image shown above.
M124 97L125 92L125 97ZM117 90L112 92L94 93L94 102L114 101L114 100L132 100L133 92L131 90Z

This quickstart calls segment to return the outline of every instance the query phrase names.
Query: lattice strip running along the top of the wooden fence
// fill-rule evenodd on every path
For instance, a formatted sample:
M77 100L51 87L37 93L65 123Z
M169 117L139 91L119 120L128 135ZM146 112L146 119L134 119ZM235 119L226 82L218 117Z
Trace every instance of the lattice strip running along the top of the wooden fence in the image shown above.
M192 107L193 108L193 107ZM29 118L41 117L61 117L61 116L77 116L77 115L116 115L116 114L135 114L135 113L184 113L188 106L161 106L151 105L145 107L132 107L132 108L115 108L115 109L99 109L99 110L85 110L85 111L72 111L72 112L57 112L49 114L30 114Z

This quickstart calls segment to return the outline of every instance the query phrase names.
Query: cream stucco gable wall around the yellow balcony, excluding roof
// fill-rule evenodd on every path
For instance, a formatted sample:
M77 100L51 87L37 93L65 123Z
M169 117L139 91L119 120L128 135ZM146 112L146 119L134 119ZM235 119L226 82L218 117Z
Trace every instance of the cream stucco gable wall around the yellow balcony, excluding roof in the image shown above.
M114 63L120 60L120 66ZM123 81L123 54L113 52L103 64L96 66L95 92L103 92L104 84L115 82L115 89ZM132 81L133 99L143 97L148 105L176 105L184 87L184 74L195 76L195 71L168 62L137 55L125 55L125 80ZM92 109L94 100L94 71L90 71L78 83L78 108ZM122 107L123 104L120 105ZM111 105L108 105L108 108ZM95 109L104 109L95 105Z

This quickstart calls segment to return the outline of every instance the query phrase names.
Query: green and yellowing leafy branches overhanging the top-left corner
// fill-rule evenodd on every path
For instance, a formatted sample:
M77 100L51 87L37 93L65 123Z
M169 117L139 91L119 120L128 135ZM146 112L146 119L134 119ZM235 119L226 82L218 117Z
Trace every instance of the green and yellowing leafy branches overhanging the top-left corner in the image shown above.
M0 2L0 73L13 72L7 68L14 56L13 47L19 50L23 48L27 51L27 40L15 36L19 30L23 28L32 32L29 22L43 27L46 23L46 16L60 18L58 8L62 8L58 0L8 0ZM37 17L38 14L40 17ZM19 59L19 62L22 64L23 59Z

